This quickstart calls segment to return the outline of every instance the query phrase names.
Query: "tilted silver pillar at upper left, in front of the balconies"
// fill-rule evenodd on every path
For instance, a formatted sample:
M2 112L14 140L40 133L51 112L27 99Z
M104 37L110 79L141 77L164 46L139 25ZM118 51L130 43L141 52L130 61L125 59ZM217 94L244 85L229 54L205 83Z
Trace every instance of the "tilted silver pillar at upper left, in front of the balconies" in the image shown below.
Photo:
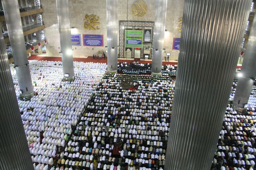
M27 51L20 20L20 11L17 0L2 0L5 21L9 34L10 44L16 66L17 79L22 92L21 98L33 96L33 85L27 59Z

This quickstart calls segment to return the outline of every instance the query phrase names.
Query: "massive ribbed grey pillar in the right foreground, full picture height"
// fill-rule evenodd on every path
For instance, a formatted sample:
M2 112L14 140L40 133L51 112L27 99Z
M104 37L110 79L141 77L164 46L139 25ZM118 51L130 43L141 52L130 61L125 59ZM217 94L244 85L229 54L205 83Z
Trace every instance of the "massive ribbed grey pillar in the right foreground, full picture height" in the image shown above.
M164 169L210 169L251 0L185 0Z

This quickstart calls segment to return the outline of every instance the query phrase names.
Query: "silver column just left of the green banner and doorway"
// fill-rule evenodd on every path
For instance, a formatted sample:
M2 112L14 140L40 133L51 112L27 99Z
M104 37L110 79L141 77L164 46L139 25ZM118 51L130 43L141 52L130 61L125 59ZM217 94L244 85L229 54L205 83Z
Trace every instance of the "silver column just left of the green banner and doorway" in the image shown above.
M107 0L108 74L117 73L117 0Z

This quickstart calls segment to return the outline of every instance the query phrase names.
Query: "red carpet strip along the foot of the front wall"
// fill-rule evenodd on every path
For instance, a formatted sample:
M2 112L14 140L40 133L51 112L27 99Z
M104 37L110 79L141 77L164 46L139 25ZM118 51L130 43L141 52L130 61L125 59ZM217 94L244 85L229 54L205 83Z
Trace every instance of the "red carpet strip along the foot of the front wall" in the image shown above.
M29 60L47 60L47 61L61 61L61 57L38 57L37 55L31 55ZM87 58L73 58L74 61L78 62L101 62L101 63L107 63L107 59L93 59L92 56L89 56ZM119 62L135 62L134 60L123 60L118 59ZM152 63L152 61L141 61L140 59L137 59L137 62L140 63ZM170 64L170 65L176 65L177 62L163 62L163 64Z

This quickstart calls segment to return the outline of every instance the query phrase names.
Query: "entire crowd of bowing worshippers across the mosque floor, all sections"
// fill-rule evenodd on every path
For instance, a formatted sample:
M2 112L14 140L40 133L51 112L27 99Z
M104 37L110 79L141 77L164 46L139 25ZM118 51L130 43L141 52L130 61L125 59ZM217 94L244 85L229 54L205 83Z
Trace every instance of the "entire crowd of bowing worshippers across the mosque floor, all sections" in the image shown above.
M124 90L121 74L102 79L105 64L74 62L74 67L75 80L62 82L61 62L30 61L36 95L18 103L34 168L164 169L175 79L133 75L136 90ZM18 96L13 67L11 72ZM232 108L236 84L211 169L255 169L256 88L248 114L240 115Z

